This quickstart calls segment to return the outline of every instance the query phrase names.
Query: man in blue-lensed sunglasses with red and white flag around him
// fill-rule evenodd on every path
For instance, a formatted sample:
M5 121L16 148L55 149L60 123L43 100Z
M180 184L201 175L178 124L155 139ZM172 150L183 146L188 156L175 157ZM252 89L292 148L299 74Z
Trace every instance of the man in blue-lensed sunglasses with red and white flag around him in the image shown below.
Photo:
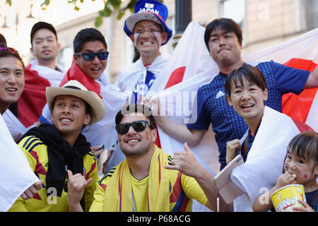
M76 80L94 91L105 105L106 114L104 119L98 123L83 129L83 135L93 146L95 155L99 155L104 145L105 149L112 150L117 145L118 137L114 129L114 119L118 110L122 107L126 96L117 91L115 85L109 85L104 73L107 66L107 43L102 33L95 28L80 30L73 40L73 62L71 68L66 72L61 85L68 81ZM50 123L49 108L45 107L40 117L41 123Z

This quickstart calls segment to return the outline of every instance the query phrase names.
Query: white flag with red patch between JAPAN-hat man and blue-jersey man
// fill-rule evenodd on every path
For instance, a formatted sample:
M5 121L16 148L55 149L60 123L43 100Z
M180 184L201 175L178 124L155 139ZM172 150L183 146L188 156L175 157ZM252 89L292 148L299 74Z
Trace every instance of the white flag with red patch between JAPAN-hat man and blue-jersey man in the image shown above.
M179 124L191 122L189 120L192 120L192 105L197 90L201 85L211 81L213 74L218 72L216 63L211 60L206 49L204 30L205 28L196 22L189 23L163 71L153 83L153 90L163 91L147 94L152 99L158 97L161 103L165 102L165 106L162 106L165 107L165 114ZM215 67L206 71L206 65L210 64ZM165 152L173 155L176 151L184 150L183 143L165 133L160 126L158 134L161 148ZM211 128L201 143L191 149L200 164L211 174L218 172L218 148Z

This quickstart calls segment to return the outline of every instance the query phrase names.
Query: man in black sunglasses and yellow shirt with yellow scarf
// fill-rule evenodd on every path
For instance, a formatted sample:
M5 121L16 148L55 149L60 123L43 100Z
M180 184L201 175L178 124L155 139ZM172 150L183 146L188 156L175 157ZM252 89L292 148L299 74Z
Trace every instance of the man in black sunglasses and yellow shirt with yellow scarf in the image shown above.
M178 154L187 153L196 161L189 147L185 144L186 151L172 157L155 145L157 131L151 109L126 105L117 113L116 125L126 159L98 182L90 211L192 211L192 198L216 210L216 191L208 172L199 166L189 177L188 172L172 169L179 165ZM199 170L204 174L196 174ZM82 191L86 184L84 177L71 177L69 192ZM73 192L69 193L69 210L83 210Z

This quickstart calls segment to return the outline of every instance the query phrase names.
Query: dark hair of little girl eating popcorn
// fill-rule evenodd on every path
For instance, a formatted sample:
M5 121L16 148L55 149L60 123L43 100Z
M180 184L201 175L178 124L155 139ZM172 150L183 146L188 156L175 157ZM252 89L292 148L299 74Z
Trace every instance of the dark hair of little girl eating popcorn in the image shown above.
M306 131L295 136L288 144L287 150L306 162L314 161L318 164L318 133Z

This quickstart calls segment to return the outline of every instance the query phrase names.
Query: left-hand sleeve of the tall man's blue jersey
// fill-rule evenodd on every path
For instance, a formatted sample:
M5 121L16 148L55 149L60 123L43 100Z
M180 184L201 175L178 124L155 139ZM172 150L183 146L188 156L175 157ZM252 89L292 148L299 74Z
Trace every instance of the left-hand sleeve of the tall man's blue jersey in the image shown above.
M204 107L204 95L199 88L198 93L196 94L196 103L197 109L196 112L192 112L192 118L196 116L196 122L193 124L187 124L188 129L197 129L197 130L208 130L208 126L211 124L210 114Z

